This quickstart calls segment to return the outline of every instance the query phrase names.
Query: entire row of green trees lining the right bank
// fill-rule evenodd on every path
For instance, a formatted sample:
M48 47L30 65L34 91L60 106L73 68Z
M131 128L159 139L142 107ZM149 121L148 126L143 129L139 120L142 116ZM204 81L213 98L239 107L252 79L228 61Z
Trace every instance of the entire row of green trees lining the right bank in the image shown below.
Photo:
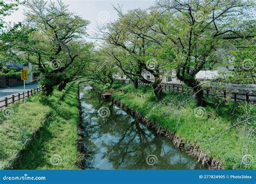
M138 88L138 80L150 83L154 94L163 97L162 76L170 70L193 88L198 106L205 106L196 74L215 66L235 66L228 80L255 77L255 3L251 1L157 1L150 9L123 13L98 27L103 45L92 63L92 75L111 82L117 70ZM254 49L254 51L253 51ZM101 67L97 67L101 66ZM106 67L107 66L107 67ZM142 72L150 72L154 81ZM255 81L254 81L255 82Z

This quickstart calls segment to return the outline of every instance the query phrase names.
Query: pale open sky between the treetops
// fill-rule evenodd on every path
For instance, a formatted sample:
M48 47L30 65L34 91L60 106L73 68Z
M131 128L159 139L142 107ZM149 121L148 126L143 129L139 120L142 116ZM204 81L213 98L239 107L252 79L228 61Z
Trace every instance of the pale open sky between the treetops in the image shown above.
M8 1L8 0L6 0ZM9 0L10 1L10 0ZM90 25L87 27L87 32L90 37L93 37L96 32L96 26L103 25L109 21L117 19L117 12L113 9L113 5L118 4L123 6L123 11L142 8L146 9L154 5L155 0L62 0L66 5L69 5L69 10L82 16L86 20L90 20ZM14 12L12 16L6 19L10 22L22 22L24 6L19 6L19 10ZM86 38L87 41L95 42L95 39Z

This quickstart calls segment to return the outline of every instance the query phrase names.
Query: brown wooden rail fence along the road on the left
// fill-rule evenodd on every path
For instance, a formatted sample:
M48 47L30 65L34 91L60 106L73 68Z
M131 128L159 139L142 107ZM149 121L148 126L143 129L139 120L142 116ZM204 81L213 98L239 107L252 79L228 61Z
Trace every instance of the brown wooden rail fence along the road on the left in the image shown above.
M39 88L35 88L35 89L31 89L31 90L27 90L24 94L23 93L18 93L18 95L12 95L11 97L5 97L4 100L0 101L0 104L4 102L4 105L0 106L0 109L4 108L4 107L8 107L8 105L13 104L15 102L21 101L24 99L24 96L26 98L33 96L37 93L39 93L40 91L42 91L43 88L39 87Z

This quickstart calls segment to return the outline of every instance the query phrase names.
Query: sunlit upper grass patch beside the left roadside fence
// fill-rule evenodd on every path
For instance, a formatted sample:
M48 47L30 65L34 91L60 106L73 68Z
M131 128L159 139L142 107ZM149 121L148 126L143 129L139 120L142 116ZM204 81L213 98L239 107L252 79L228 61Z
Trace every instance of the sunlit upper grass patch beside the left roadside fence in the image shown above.
M0 166L8 167L16 158L16 152L24 149L24 143L40 128L50 108L38 102L15 104L8 108L13 116L0 124ZM4 119L1 113L1 119Z

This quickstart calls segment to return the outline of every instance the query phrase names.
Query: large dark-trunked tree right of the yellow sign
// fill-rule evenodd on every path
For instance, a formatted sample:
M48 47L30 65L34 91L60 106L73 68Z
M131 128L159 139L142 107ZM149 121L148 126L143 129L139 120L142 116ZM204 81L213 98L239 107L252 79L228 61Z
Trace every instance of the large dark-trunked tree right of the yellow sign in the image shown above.
M78 58L86 48L82 38L89 21L69 12L61 1L31 0L26 7L25 26L33 31L15 48L43 74L41 83L50 95L54 86L69 81L67 77L77 78L72 66L86 62Z

